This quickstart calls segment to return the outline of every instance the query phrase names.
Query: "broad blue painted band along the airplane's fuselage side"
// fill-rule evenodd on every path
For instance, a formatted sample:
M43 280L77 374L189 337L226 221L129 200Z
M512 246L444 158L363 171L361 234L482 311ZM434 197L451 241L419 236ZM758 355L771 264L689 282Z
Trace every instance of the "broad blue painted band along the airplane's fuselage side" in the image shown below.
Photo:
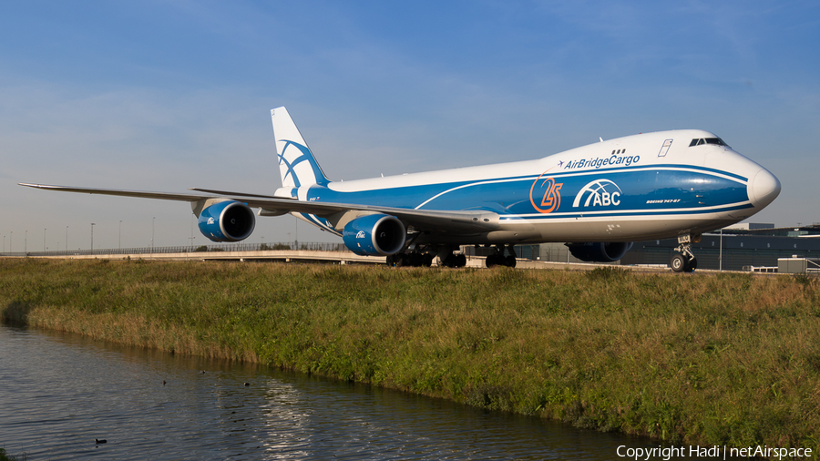
M510 178L454 181L394 189L364 191L334 191L314 186L309 198L351 204L381 205L417 210L492 210L501 215L529 215L538 213L533 202L547 200L547 191L540 189L541 181L533 184L539 175ZM610 200L611 209L623 213L658 213L669 209L706 209L713 207L743 206L748 202L746 179L740 175L691 165L651 165L627 168L595 169L548 173L560 184L560 205L555 216L571 213L573 216L598 211L606 204L604 193L618 193ZM590 182L602 181L599 188L601 203L590 202L589 207L572 207L576 196ZM611 186L610 186L611 184ZM615 187L617 186L617 187ZM610 188L607 190L606 188ZM530 201L532 190L532 201ZM680 211L684 212L684 211ZM693 212L693 211L685 211ZM696 211L694 211L696 212Z

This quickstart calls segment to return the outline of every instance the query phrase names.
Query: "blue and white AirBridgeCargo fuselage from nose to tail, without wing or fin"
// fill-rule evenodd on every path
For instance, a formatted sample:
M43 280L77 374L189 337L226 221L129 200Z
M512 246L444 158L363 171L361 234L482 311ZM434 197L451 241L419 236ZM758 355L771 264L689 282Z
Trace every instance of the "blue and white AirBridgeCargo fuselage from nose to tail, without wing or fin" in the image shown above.
M276 195L497 213L497 230L431 232L422 239L471 244L641 241L701 233L749 218L779 191L769 171L712 133L690 129L610 139L543 159L330 182ZM323 220L303 218L325 227Z

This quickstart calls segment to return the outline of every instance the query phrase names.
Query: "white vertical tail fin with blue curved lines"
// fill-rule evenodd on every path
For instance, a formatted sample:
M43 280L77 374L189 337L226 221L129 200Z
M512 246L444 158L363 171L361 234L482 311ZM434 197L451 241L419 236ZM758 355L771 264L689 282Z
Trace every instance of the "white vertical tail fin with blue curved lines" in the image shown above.
M330 182L313 152L304 142L299 128L293 123L286 108L271 109L273 137L276 138L276 155L282 174L283 188L298 188L311 184L326 185Z

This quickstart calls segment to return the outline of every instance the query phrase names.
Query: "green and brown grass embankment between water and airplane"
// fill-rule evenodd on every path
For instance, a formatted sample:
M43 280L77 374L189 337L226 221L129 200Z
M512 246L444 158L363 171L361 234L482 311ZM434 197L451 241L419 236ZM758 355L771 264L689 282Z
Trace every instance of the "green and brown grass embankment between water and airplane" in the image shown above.
M29 325L673 443L818 447L809 277L0 261Z

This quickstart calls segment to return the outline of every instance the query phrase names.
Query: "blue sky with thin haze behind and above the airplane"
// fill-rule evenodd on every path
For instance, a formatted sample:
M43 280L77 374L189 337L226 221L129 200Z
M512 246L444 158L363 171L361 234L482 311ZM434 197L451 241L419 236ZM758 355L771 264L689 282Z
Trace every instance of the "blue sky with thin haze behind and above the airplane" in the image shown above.
M754 222L820 221L817 44L808 1L7 2L0 235L88 248L95 222L96 248L149 246L152 227L186 245L185 203L15 184L270 193L279 106L331 179L703 128L783 183ZM334 241L292 217L249 241L294 234Z

